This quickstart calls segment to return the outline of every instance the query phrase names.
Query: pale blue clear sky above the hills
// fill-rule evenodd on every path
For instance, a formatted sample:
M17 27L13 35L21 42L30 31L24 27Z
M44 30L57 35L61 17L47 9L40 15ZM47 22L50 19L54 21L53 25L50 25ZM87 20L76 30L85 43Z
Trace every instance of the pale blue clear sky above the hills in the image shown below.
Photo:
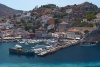
M100 7L100 0L0 0L0 3L17 10L28 11L32 10L35 6L41 6L45 4L56 4L57 6L66 6L80 4L86 1Z

